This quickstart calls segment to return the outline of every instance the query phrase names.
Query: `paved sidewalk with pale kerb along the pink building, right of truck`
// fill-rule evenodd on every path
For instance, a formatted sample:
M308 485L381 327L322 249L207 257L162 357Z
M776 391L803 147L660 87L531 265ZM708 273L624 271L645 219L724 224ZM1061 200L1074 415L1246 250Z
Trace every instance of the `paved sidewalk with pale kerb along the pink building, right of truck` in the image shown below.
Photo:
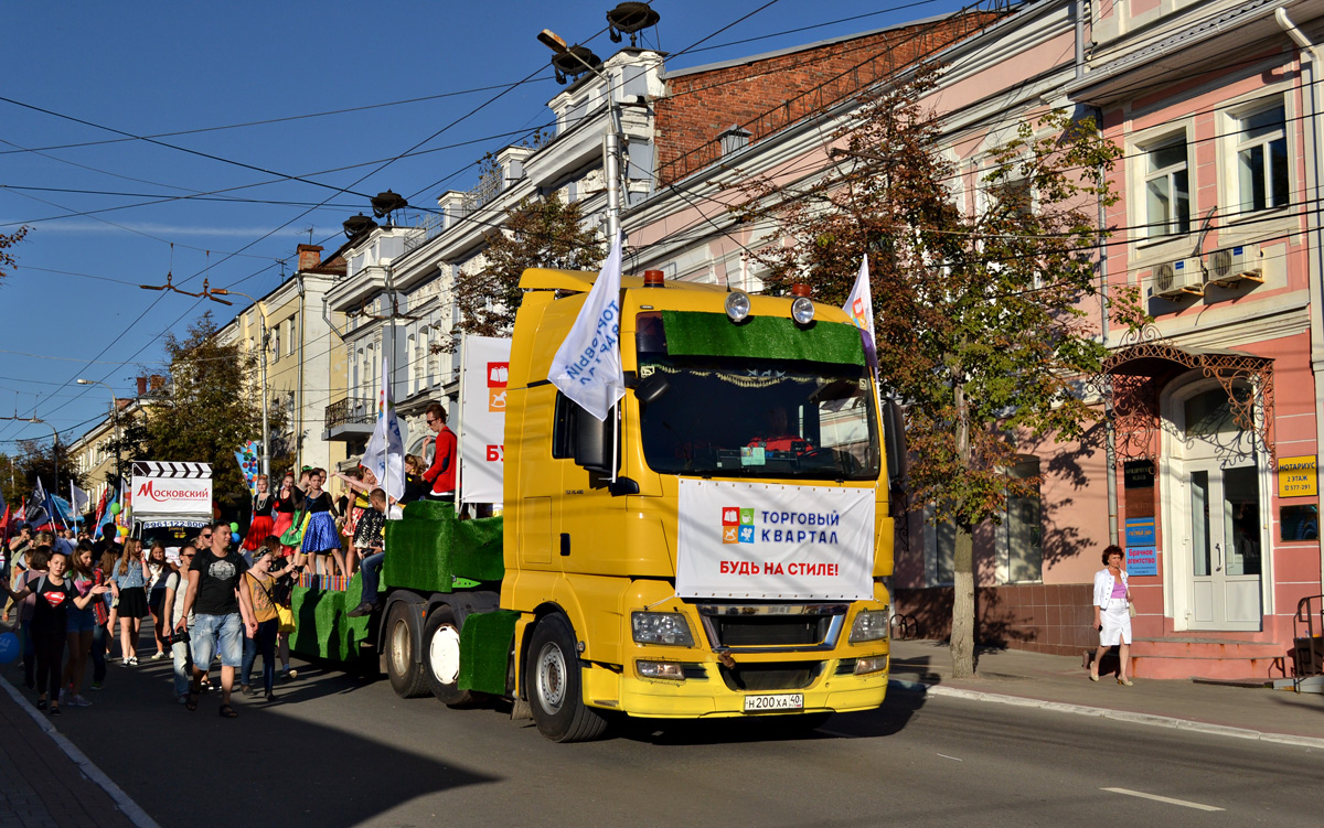
M974 679L952 679L943 642L892 640L892 690L1031 705L1324 749L1324 696L1266 688L1103 675L1088 680L1080 659L1019 649L980 651Z

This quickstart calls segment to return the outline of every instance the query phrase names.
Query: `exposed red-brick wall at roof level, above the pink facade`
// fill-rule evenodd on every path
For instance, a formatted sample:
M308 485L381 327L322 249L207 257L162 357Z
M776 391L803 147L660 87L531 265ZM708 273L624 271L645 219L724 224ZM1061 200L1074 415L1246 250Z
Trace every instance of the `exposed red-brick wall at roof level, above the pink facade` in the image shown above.
M711 164L719 157L718 136L732 124L749 131L751 143L757 142L998 17L994 12L959 15L669 78L667 95L655 102L658 180L675 181Z

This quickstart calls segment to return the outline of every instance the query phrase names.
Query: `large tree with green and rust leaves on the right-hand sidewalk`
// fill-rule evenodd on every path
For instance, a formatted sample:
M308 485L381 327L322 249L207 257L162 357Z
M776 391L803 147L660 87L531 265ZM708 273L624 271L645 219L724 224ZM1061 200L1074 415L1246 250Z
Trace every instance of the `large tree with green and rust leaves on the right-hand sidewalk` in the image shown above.
M956 528L951 649L955 675L969 676L973 530L1038 485L1006 474L1021 439L1075 439L1098 417L1079 384L1104 356L1090 298L1119 151L1092 120L1043 112L985 153L982 198L965 202L980 209L964 209L941 119L923 103L939 81L924 66L879 91L835 135L821 177L794 192L744 184L741 210L776 222L756 253L775 291L809 282L841 303L869 254L879 384L906 405L912 503Z

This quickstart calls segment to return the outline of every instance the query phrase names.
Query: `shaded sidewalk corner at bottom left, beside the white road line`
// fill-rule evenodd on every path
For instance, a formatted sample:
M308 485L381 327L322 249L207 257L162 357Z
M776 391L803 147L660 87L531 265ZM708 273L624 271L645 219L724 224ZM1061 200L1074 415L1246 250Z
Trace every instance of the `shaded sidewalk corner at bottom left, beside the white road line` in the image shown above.
M33 700L33 692L0 677L0 828L155 825L140 809L135 819L120 809L103 784L126 807L131 800L60 734L61 720L34 716Z

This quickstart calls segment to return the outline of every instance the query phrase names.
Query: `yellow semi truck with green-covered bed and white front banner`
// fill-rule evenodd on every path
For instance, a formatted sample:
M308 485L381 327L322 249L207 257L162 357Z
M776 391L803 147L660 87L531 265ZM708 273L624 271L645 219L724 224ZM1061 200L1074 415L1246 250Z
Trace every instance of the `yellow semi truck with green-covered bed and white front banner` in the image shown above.
M356 583L297 590L295 648L375 649L402 696L510 697L553 741L879 706L892 520L858 328L806 296L622 278L628 390L600 422L548 380L596 276L520 280L503 513L409 504L380 611L343 616Z

